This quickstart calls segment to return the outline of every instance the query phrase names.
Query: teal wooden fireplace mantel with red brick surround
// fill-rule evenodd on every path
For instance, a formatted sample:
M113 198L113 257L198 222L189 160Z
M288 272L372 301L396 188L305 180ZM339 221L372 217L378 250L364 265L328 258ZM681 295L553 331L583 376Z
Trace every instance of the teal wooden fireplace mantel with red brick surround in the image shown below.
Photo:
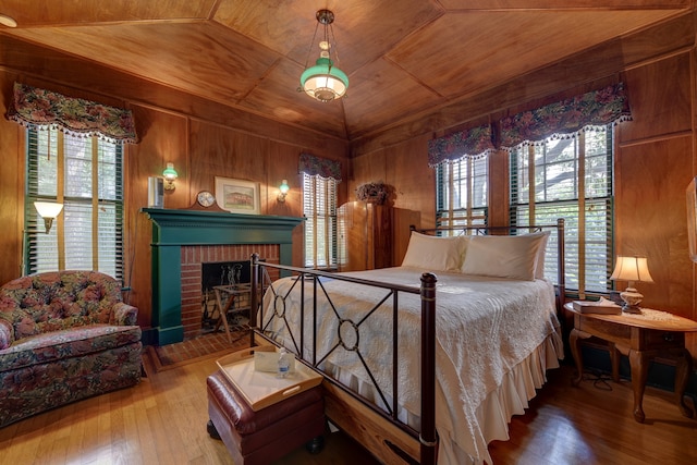
M144 342L172 344L201 331L201 264L292 265L292 232L303 218L144 208L152 221L152 328Z

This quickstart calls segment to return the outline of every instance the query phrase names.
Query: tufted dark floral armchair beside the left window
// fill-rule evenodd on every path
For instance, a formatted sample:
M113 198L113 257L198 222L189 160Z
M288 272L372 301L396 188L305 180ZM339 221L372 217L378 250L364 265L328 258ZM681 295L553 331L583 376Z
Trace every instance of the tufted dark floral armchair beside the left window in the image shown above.
M56 271L0 287L0 427L140 380L137 308L96 271Z

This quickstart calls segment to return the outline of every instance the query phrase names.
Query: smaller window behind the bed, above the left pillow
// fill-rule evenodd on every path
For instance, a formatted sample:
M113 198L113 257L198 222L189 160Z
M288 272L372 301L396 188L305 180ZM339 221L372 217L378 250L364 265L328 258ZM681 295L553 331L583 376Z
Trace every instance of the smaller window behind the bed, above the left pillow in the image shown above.
M487 224L489 170L486 157L441 163L436 171L436 223Z

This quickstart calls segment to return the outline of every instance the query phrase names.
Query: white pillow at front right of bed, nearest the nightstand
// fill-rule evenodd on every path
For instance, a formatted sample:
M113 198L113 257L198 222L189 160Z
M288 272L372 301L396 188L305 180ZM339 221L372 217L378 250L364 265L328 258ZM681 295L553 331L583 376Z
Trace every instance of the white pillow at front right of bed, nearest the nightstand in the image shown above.
M466 274L534 281L548 232L524 235L476 235L462 266ZM543 267L543 265L542 265Z

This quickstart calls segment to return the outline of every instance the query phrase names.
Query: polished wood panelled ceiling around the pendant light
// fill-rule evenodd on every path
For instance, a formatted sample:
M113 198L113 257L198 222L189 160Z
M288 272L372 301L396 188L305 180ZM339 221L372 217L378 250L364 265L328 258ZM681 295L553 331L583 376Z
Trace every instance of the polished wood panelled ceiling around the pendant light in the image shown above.
M346 98L297 91L335 14ZM3 0L0 34L354 140L693 8L692 0Z

